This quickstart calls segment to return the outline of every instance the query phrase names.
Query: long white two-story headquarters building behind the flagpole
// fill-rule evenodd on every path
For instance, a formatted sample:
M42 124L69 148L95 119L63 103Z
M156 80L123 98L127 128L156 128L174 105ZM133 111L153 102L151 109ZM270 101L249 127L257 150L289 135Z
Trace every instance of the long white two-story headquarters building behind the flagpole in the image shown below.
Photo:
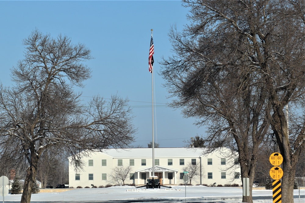
M155 175L161 184L178 185L183 183L185 168L196 166L198 175L192 178L192 185L241 184L240 168L237 156L226 148L204 154L198 148L155 148L155 167L152 174L152 148L106 149L83 157L85 165L75 170L69 158L70 187L86 187L111 182L110 174L117 166L131 166L132 169L125 184L146 184L149 176ZM193 167L194 168L194 167Z

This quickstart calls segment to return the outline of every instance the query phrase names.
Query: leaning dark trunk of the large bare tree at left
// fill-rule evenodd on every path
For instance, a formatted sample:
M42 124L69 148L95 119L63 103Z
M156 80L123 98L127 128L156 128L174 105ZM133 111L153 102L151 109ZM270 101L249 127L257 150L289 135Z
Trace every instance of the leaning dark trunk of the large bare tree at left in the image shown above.
M38 156L31 150L30 167L27 168L27 177L24 180L23 193L21 203L30 203L33 184L35 183L36 173L38 169Z

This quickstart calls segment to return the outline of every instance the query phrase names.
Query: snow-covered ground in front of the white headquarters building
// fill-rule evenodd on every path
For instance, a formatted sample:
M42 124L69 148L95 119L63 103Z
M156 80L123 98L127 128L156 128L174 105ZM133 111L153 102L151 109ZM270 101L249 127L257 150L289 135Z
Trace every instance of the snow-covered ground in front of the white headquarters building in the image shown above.
M186 197L185 197L186 192ZM301 195L305 194L304 190L300 191ZM299 195L298 190L294 190L294 195ZM270 199L254 200L253 202L264 202L272 203L272 190L253 190L254 196L269 196ZM107 201L107 200L144 200L155 199L158 202L158 198L170 198L170 202L176 202L175 199L180 200L191 198L219 198L222 203L236 203L240 202L236 199L230 200L230 197L242 198L242 189L235 187L205 187L205 186L173 186L172 188L160 188L160 189L146 189L135 188L131 186L113 186L108 188L81 188L74 189L65 192L41 192L38 194L32 194L31 201L44 202L44 201L60 201L60 202L71 202L71 201ZM228 198L228 199L227 199ZM1 198L0 198L1 199ZM19 201L21 194L8 194L4 197L5 201ZM213 201L215 202L215 201ZM295 203L299 202L299 199L295 199ZM300 203L304 203L304 198L300 199Z

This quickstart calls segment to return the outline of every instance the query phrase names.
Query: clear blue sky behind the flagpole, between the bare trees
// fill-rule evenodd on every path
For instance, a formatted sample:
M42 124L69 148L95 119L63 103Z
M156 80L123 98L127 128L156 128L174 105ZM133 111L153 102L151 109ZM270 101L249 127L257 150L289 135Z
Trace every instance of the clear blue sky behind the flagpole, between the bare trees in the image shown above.
M156 101L155 142L160 147L183 147L184 140L204 135L203 127L194 119L183 118L180 110L166 107L171 99L162 84L161 57L168 57L171 44L168 31L188 23L187 8L180 1L0 1L0 81L12 86L10 68L23 59L22 40L32 30L69 36L74 43L83 43L94 59L85 64L92 69L92 78L83 92L83 99L112 94L130 100L134 125L138 128L134 145L147 147L152 141L152 92L148 55L153 29L154 92Z

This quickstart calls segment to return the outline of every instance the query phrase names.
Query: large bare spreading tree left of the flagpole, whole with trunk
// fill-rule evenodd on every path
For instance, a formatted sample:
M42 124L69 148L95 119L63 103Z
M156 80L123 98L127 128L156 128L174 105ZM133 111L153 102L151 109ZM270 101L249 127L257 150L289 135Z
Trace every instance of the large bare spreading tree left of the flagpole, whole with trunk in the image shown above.
M74 93L91 75L83 64L92 58L87 47L38 30L23 44L24 59L11 71L16 85L0 87L0 146L16 161L27 160L21 202L30 202L44 152L61 150L80 163L90 151L130 145L135 129L127 99L112 96L106 102L97 96L85 105L81 93Z

